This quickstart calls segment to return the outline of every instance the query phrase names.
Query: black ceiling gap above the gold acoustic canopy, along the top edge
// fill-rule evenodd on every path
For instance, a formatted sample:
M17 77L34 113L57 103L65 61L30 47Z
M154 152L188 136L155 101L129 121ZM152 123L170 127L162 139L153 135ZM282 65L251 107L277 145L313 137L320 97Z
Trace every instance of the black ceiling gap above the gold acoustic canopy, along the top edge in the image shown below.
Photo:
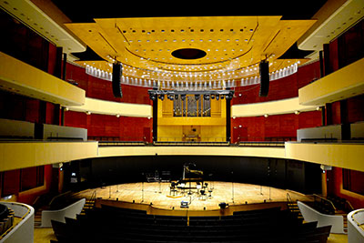
M292 0L222 1L196 3L185 0L183 5L168 8L170 1L115 1L104 0L52 0L74 23L92 23L94 18L113 17L163 17L163 16L234 16L234 15L282 15L282 19L310 19L327 0L305 0L297 4ZM168 9L168 10L167 10Z

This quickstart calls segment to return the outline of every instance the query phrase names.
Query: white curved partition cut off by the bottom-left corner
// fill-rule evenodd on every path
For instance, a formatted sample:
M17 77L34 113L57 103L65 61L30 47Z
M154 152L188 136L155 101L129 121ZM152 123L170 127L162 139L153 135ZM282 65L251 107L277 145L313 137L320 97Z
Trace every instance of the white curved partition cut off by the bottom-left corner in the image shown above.
M1 243L33 243L34 240L34 208L17 202L1 202L7 208L12 208L16 218L22 218L19 223L11 228Z

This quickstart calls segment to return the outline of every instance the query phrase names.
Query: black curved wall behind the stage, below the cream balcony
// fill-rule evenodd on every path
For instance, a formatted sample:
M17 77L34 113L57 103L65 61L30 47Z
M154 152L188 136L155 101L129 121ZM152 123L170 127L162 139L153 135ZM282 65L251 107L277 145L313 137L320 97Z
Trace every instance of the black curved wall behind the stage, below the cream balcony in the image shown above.
M193 162L206 180L235 181L292 189L302 193L321 192L318 164L298 160L262 157L154 156L105 157L73 161L65 167L65 187L80 189L116 183L146 181L145 173L171 171L172 179L182 177L183 165ZM76 172L77 185L70 185ZM82 177L82 180L81 180ZM82 184L82 185L81 185Z

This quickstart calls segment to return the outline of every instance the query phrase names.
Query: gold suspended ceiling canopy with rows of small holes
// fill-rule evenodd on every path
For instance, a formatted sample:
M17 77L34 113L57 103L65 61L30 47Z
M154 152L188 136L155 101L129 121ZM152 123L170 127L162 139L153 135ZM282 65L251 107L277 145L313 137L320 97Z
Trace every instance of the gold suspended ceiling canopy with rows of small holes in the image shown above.
M298 60L278 59L316 20L280 20L281 16L204 16L95 19L95 23L66 24L105 59L97 68L110 72L121 62L125 75L168 81L207 81L258 74L267 59L269 71ZM194 48L206 56L183 59L175 50ZM301 63L304 60L300 60ZM95 62L82 62L93 66ZM109 63L109 64L107 64ZM95 65L94 65L95 66ZM107 70L109 69L109 70Z

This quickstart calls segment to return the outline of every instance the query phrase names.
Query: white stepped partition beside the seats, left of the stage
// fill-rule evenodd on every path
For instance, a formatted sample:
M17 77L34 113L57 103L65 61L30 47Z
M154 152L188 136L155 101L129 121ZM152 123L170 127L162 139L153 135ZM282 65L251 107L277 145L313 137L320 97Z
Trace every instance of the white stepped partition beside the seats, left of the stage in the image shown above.
M51 220L56 220L59 222L66 222L66 218L76 218L76 215L82 211L84 205L86 203L86 199L83 198L81 200L76 201L76 203L67 206L66 208L62 208L59 210L43 210L42 211L42 228L50 228L52 227Z

